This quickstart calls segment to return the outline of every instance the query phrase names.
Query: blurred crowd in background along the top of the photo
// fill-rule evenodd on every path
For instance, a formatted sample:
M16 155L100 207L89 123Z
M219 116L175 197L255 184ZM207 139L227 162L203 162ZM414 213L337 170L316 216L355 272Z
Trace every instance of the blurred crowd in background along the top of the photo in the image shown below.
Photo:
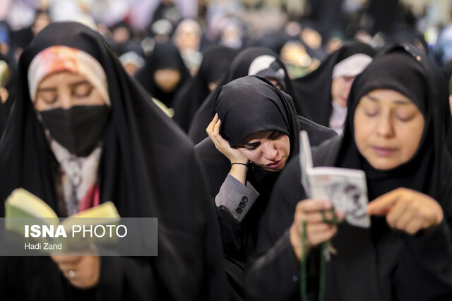
M291 78L350 39L376 48L411 42L439 66L452 58L452 0L2 0L0 20L10 65L37 32L63 20L101 32L131 75L169 40L192 76L212 44L268 47Z

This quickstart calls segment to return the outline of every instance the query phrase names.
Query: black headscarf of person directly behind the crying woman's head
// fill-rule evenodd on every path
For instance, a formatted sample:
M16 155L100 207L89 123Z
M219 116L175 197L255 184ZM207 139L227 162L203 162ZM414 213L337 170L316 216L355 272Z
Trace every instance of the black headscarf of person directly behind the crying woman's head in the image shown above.
M253 61L258 58L258 56L264 55L273 56L275 58L275 61L270 65L269 68L261 70L256 75L265 77L273 75L272 78L278 80L278 82L280 82L280 85L285 88L285 92L289 94L292 99L294 98L292 92L292 82L287 75L287 70L285 69L283 62L278 59L278 55L270 49L263 47L251 47L249 49L245 49L235 57L218 87L209 94L209 96L203 102L202 106L198 109L198 111L196 111L194 120L191 123L189 130L189 137L191 138L191 140L193 140L193 142L195 142L195 144L201 142L204 138L207 137L206 128L209 125L210 121L212 121L213 116L215 116L215 108L213 108L213 103L215 102L215 96L218 94L218 91L220 91L220 88L223 85L226 85L228 82L231 82L232 80L243 78L244 76L249 75L249 67L251 66L251 63L253 63ZM284 74L277 72L278 70L283 70ZM302 115L299 112L299 108L301 107L297 104L297 99L294 99L293 102L295 104L297 113Z

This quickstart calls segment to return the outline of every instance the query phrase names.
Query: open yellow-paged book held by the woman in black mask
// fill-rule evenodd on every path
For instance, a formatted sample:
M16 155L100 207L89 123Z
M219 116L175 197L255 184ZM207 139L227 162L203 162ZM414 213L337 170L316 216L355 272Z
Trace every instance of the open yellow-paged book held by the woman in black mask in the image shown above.
M63 242L59 250L87 247L93 240L99 240L99 236L93 235L93 231L91 234L89 231L83 233L83 229L90 230L96 226L106 228L107 225L116 225L120 219L114 204L105 202L73 214L60 223L48 204L23 188L11 192L6 199L5 209L7 231L22 235L25 241L33 240L47 245Z

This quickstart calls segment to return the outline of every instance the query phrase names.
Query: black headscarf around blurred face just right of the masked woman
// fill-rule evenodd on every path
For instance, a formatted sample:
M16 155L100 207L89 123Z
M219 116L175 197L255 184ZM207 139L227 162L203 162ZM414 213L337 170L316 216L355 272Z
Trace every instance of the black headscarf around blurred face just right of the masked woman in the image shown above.
M172 92L160 90L154 80L155 71L166 68L178 70L181 73L181 78ZM191 75L179 49L173 42L167 41L155 44L153 53L146 57L145 65L137 71L135 78L153 97L171 108L174 95L190 80Z

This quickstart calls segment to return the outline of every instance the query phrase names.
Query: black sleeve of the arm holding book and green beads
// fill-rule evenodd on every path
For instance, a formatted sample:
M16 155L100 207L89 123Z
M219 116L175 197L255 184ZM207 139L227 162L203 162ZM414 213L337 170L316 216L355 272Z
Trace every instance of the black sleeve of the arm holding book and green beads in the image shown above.
M246 275L250 300L299 300L299 264L288 233L297 203L306 198L298 160L295 156L278 178L263 216Z

